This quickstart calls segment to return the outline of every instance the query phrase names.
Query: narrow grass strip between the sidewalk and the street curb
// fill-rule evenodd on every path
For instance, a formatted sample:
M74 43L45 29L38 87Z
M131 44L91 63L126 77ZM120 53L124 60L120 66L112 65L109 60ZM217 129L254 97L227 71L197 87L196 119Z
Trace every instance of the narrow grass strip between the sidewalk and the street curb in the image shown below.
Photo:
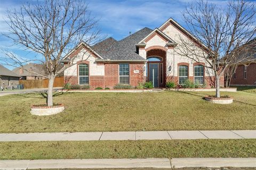
M0 159L256 157L255 139L0 142Z

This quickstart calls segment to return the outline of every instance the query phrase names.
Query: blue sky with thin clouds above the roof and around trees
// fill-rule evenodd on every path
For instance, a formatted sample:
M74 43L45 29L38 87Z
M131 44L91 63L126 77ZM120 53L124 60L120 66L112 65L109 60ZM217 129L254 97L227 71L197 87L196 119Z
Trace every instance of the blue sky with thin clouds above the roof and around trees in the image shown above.
M30 0L33 3L34 0ZM144 27L154 29L162 25L167 19L173 18L183 27L186 24L182 19L182 12L186 3L193 0L88 0L89 10L95 18L99 19L99 28L103 35L113 37L116 40L123 39L131 31L134 33ZM225 5L226 1L209 0L212 3ZM4 22L6 8L17 8L22 0L0 0L0 32L8 30ZM4 47L21 57L31 58L35 54L25 52L18 46L11 46L12 42L0 35L0 48ZM0 57L3 54L0 54Z

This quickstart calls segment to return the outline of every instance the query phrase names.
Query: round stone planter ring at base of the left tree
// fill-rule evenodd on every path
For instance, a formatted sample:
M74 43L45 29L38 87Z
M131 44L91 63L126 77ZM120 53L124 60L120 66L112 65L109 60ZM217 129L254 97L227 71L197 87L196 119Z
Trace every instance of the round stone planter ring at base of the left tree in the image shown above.
M64 111L62 104L58 106L32 106L30 113L38 116L53 115Z

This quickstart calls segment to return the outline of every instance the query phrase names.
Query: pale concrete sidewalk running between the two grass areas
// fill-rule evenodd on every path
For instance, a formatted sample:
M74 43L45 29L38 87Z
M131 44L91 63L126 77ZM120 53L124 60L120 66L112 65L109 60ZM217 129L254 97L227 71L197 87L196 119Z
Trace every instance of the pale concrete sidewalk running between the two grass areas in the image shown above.
M0 133L0 141L256 139L256 130Z

